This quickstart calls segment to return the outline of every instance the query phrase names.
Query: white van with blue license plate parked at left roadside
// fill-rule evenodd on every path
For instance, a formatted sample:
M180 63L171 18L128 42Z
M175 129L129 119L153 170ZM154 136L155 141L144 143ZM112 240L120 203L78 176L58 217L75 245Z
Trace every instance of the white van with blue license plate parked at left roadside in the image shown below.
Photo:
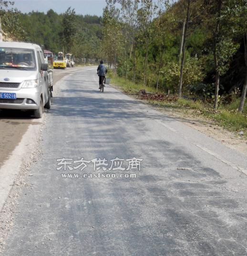
M51 108L52 83L39 45L0 42L0 109L33 109L41 118Z

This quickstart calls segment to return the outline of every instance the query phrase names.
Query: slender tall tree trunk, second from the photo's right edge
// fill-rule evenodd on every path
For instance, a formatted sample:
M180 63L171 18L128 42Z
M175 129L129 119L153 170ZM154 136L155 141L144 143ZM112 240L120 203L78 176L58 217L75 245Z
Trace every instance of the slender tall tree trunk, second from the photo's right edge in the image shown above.
M222 0L217 0L217 19L216 19L216 28L215 28L215 35L214 35L214 62L215 62L215 102L214 102L214 110L218 107L218 96L219 96L219 72L218 72L218 56L217 56L217 43L218 43L218 36L219 36L219 18L221 15L221 6Z

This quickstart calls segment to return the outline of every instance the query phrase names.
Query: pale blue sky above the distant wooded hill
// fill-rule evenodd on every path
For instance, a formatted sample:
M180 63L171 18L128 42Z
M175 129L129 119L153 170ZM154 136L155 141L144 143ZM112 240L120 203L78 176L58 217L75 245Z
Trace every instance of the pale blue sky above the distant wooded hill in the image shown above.
M53 9L57 13L65 12L70 6L78 14L102 16L105 0L14 0L21 12L43 11Z

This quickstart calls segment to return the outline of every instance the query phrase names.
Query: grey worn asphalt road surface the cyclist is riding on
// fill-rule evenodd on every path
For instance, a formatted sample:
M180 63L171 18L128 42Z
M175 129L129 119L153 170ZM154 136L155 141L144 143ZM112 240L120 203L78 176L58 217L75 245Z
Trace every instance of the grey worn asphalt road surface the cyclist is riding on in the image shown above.
M46 119L43 157L27 177L4 256L247 255L243 155L110 86L99 92L93 67L62 78ZM82 157L110 164L57 170L57 159ZM110 170L116 157L130 170ZM134 157L143 160L129 165Z

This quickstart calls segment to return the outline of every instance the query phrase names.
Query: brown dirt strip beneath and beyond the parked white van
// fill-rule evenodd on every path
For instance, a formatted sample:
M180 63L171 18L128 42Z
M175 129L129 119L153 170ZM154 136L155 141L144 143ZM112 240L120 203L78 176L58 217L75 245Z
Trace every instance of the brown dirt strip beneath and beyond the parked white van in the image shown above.
M54 85L62 79L63 76L70 74L74 70L75 69L54 70ZM0 166L9 158L11 152L20 143L29 126L39 124L39 119L37 119L37 121L33 120L28 111L0 111Z

